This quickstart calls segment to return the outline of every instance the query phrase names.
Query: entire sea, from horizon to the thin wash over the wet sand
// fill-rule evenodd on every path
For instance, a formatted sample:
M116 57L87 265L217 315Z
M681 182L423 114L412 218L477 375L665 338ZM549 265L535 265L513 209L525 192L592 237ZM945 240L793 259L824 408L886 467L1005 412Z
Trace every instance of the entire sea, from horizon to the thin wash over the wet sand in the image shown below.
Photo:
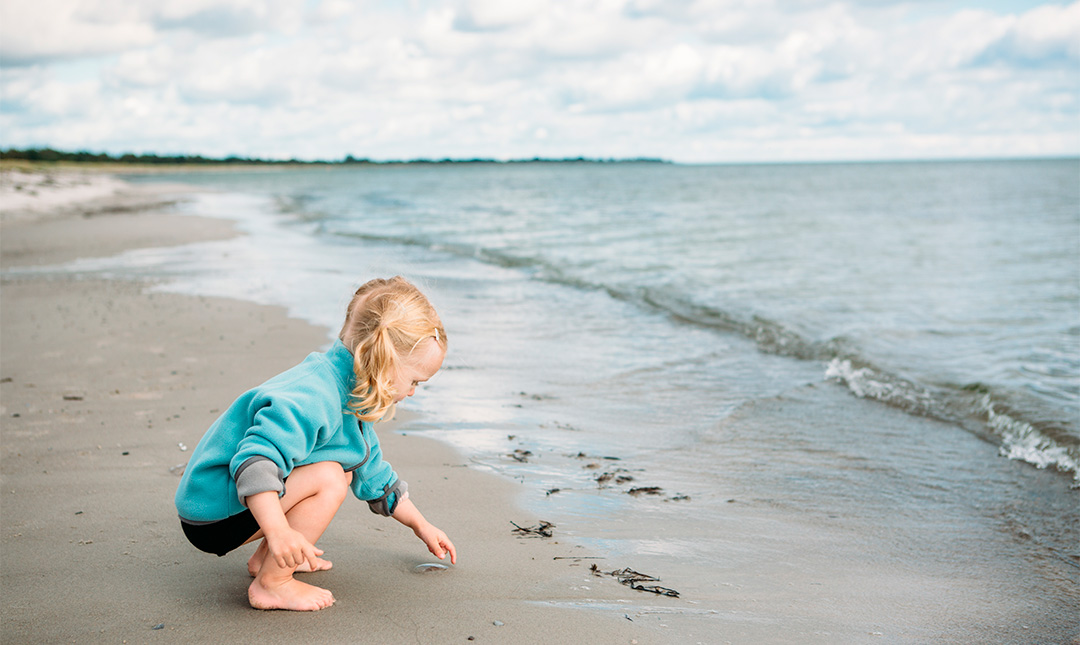
M248 234L75 270L283 305L334 333L356 284L409 277L450 352L408 431L680 586L703 603L687 615L800 624L804 642L1075 631L1076 159L162 178L210 189L181 209ZM851 582L831 593L838 563ZM864 618L841 610L853 589Z

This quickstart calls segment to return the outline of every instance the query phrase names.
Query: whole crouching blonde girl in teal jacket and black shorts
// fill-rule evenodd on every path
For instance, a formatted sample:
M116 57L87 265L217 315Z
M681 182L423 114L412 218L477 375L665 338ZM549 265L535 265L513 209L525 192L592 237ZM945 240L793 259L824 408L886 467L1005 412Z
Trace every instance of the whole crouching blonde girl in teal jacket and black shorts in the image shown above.
M353 296L329 351L244 393L211 426L180 480L176 508L202 551L225 555L262 540L247 562L253 607L334 604L329 591L293 574L330 568L315 542L347 488L457 563L454 543L423 519L382 459L372 427L391 418L445 355L446 332L423 294L401 277L372 280Z

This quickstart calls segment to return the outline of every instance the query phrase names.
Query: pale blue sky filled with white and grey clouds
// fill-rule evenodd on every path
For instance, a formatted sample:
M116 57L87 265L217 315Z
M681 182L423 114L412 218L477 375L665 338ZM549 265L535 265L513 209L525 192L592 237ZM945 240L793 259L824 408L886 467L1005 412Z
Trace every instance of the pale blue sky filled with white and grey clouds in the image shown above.
M0 0L0 147L1080 154L1080 0Z

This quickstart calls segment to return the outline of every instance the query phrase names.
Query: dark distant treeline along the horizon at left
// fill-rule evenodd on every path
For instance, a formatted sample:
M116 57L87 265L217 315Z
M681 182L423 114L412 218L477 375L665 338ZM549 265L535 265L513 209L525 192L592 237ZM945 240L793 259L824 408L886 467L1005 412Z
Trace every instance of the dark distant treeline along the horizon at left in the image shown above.
M588 157L572 157L564 159L545 159L534 157L532 159L513 159L502 161L499 159L410 159L402 161L373 161L370 159L357 159L352 154L338 161L302 161L299 159L258 159L253 157L225 157L213 158L202 154L108 154L106 152L89 152L79 150L67 152L54 150L52 148L26 148L18 150L10 148L0 150L0 159L17 159L22 161L69 161L77 163L140 163L140 164L206 164L206 165L230 165L230 164L302 164L302 165L392 165L408 163L671 163L664 159L653 159L639 157L634 159L591 159Z

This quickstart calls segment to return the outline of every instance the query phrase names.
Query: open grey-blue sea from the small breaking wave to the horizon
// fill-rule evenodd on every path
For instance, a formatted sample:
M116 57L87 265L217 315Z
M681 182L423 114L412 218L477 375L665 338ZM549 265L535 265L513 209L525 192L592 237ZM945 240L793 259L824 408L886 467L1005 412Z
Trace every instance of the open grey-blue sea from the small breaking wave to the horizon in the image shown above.
M510 268L516 280L627 303L635 322L663 313L662 342L698 327L825 362L858 395L1075 472L1078 174L1065 160L484 164L201 180L267 196L324 242L427 252L453 266L449 278L477 264Z

